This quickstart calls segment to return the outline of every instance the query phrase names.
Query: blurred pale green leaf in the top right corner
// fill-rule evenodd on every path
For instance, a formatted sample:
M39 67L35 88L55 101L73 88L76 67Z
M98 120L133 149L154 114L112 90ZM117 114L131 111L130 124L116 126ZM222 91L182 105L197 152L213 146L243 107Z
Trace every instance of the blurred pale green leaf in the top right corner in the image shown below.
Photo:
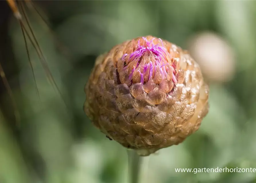
M253 30L253 13L249 7L255 1L222 1L219 0L216 17L222 33L233 43L237 51L239 68L244 70L255 61L255 30Z

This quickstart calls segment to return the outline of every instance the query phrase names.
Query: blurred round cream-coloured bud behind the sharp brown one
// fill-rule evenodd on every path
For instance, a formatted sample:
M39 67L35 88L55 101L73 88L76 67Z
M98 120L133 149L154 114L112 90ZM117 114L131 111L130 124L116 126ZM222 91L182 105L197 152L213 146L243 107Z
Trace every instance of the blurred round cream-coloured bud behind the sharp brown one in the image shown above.
M189 39L188 50L211 81L232 79L235 58L232 48L224 39L211 32L203 32Z

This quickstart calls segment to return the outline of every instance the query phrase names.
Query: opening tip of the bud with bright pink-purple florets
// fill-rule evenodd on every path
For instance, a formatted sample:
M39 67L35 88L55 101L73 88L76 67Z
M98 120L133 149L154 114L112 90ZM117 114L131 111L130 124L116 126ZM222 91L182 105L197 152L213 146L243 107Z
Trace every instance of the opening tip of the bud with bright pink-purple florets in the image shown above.
M159 45L160 44L160 45ZM121 59L124 74L122 79L128 85L131 83L146 83L150 79L160 82L165 77L172 78L177 83L174 75L174 65L170 64L170 57L161 39L152 38L150 41L146 37L139 39L135 50L128 54L124 53ZM172 75L170 76L170 73Z

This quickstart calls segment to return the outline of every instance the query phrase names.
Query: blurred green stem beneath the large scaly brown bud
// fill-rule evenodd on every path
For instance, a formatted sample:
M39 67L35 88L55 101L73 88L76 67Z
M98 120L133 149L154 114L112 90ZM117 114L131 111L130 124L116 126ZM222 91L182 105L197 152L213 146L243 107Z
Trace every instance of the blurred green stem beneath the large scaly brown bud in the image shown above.
M139 183L142 157L134 150L127 150L130 183Z

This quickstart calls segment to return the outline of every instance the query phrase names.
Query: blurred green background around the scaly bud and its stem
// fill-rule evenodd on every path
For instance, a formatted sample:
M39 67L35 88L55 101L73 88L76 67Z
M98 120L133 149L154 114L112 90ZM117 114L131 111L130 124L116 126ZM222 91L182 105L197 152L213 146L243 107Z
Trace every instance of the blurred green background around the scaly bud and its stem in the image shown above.
M190 51L210 85L210 111L185 142L144 158L141 183L256 182L256 173L175 172L256 168L256 1L36 1L52 31L27 12L67 107L29 44L39 101L21 29L1 1L0 61L21 121L1 81L0 183L128 183L126 150L86 117L83 89L98 55L145 35Z

